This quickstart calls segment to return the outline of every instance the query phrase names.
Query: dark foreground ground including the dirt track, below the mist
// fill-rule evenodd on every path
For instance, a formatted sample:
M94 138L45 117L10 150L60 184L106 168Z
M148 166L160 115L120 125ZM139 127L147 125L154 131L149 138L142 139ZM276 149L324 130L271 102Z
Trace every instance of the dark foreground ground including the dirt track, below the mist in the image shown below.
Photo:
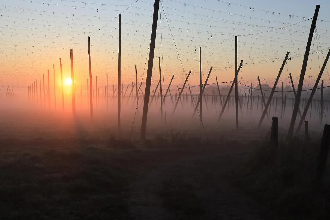
M250 154L235 143L33 141L2 140L1 219L279 219L228 180Z

